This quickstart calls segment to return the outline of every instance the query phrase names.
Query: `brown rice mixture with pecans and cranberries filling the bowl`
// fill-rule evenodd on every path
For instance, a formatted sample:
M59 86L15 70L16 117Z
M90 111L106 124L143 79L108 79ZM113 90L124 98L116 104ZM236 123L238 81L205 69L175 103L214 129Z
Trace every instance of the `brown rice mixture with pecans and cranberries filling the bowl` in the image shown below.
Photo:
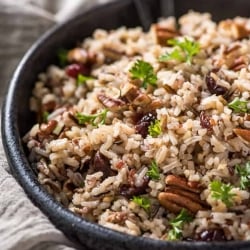
M127 234L171 240L186 211L178 240L249 240L249 187L236 171L250 161L249 37L250 19L197 12L148 32L95 30L35 83L37 124L23 141L39 182L74 213ZM199 51L159 60L173 39ZM138 62L155 84L136 79ZM237 98L245 111L230 107ZM230 186L230 202L216 198L215 181Z

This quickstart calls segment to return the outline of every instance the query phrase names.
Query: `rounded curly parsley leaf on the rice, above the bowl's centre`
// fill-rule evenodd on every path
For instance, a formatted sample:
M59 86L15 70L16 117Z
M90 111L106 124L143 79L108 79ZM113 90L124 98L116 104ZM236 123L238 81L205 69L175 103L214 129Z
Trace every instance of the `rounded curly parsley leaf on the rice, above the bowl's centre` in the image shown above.
M139 79L142 81L143 88L146 89L148 84L156 86L157 76L150 63L143 60L137 60L129 72L133 79Z

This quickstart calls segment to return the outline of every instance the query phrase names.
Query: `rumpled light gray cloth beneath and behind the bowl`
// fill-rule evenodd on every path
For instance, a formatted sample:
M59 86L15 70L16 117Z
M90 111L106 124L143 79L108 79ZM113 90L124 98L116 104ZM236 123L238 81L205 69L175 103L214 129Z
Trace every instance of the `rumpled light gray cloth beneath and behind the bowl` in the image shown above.
M0 107L21 57L46 30L108 0L0 0ZM10 174L0 141L0 249L72 250L75 246L27 198Z

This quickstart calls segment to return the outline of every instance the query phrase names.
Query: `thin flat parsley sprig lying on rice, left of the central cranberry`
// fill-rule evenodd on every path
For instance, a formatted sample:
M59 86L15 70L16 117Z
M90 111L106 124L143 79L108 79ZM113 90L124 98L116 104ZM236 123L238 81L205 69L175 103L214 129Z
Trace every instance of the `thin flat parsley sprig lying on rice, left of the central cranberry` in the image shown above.
M91 123L93 126L98 124L104 124L106 121L108 109L104 109L102 112L93 115L86 115L82 113L76 113L76 119L79 124Z

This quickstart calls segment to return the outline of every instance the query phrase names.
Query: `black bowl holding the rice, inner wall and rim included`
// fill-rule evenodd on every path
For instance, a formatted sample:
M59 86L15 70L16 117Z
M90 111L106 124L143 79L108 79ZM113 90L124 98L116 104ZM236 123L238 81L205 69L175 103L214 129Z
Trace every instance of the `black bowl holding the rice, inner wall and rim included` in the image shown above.
M91 35L96 28L113 29L124 25L128 27L141 25L144 19L139 15L134 2L120 0L85 11L80 16L50 30L27 52L10 82L2 113L3 143L12 173L34 204L66 236L80 246L103 250L250 249L250 242L247 241L212 243L157 241L126 235L90 223L58 204L38 183L27 160L21 138L34 122L29 111L29 97L38 73L56 61L55 52L59 47L73 47L84 37ZM250 9L248 0L175 0L173 2L175 8L171 8L172 2L168 0L141 1L148 10L146 22L156 21L161 15L175 14L178 17L189 9L211 12L215 20L237 15L248 16ZM163 5L167 8L163 8ZM148 26L148 23L144 22L143 25Z

